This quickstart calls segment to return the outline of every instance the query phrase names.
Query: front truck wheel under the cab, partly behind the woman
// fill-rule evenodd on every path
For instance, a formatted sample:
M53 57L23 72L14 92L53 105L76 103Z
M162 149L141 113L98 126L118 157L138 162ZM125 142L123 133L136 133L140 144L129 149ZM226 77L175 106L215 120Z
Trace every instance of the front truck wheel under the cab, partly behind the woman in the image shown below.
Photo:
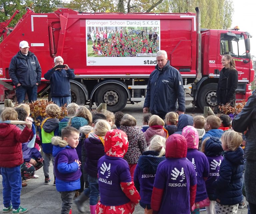
M197 102L199 107L204 110L205 106L214 107L217 106L217 83L209 83L204 85L198 94Z

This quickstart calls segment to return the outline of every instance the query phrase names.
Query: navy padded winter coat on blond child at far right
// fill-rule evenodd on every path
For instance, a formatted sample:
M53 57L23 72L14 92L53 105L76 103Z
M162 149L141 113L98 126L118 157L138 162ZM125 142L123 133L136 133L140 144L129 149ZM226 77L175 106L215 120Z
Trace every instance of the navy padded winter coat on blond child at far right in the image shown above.
M220 165L219 178L213 182L216 201L222 205L235 205L243 200L242 182L244 151L239 147L236 151L224 152Z

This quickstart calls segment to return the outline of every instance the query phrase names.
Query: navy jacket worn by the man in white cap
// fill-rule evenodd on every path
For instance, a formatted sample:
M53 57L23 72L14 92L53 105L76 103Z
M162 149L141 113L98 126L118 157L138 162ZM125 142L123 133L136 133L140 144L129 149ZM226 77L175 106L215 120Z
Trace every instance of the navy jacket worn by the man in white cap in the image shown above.
M9 75L13 85L19 83L24 87L33 87L41 82L42 70L35 54L28 52L23 55L20 51L12 58L9 66Z

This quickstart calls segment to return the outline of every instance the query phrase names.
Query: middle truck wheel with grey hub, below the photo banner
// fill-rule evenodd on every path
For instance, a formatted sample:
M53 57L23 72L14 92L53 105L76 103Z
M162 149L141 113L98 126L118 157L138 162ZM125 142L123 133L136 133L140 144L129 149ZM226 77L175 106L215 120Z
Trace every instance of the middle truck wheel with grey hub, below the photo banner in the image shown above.
M96 105L106 103L109 111L122 111L127 103L127 94L121 86L105 84L96 91L95 102Z

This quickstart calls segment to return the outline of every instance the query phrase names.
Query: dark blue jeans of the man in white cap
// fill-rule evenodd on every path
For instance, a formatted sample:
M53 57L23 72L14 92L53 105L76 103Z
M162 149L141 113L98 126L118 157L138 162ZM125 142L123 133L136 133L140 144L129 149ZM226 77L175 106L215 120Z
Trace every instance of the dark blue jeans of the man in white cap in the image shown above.
M23 103L25 101L26 93L28 94L28 102L37 100L37 85L33 87L16 87L17 102Z

